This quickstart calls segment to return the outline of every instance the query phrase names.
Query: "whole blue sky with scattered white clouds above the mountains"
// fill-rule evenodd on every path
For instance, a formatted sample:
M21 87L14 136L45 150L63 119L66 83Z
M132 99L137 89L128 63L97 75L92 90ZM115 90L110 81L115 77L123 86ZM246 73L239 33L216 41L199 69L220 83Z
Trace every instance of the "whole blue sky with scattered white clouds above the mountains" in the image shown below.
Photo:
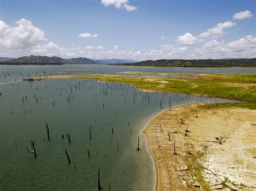
M256 57L255 0L0 0L0 56Z

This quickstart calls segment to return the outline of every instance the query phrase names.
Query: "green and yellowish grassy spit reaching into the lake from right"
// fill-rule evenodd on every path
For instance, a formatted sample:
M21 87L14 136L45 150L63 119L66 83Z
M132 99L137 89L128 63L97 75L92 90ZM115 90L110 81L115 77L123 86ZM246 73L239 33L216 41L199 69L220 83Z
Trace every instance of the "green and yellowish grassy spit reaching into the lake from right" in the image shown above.
M136 74L163 74L130 72ZM71 75L69 77L122 82L138 89L181 93L256 103L256 74L173 74L178 77L139 77L125 75ZM192 79L191 79L192 78ZM46 78L41 78L43 80ZM38 79L37 79L38 80Z

